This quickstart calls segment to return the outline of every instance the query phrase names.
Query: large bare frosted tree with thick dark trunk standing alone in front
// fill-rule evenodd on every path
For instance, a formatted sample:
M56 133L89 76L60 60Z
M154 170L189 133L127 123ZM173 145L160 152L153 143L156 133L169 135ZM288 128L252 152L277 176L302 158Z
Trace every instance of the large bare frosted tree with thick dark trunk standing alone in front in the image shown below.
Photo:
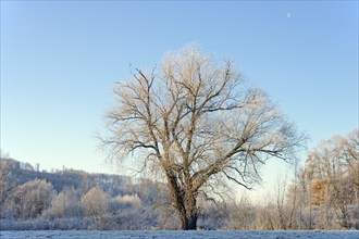
M182 229L196 229L200 193L219 180L250 188L261 164L289 161L304 141L232 61L220 65L194 47L151 73L136 70L114 93L103 143L111 156L163 175Z

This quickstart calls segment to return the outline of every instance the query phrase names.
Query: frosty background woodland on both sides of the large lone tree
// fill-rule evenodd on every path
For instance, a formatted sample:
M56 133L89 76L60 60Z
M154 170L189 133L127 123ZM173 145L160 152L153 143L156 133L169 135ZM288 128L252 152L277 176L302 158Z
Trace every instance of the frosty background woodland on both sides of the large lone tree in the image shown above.
M199 197L203 229L359 229L358 129L311 150L260 203ZM178 229L163 183L39 166L1 156L0 229Z

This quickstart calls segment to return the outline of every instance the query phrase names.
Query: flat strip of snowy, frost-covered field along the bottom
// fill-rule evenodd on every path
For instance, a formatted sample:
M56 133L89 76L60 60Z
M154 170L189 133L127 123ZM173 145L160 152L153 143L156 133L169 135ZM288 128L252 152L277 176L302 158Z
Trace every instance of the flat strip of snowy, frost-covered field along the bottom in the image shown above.
M267 238L267 239L284 239L284 238L310 238L310 239L358 239L359 231L239 231L239 230L197 230L197 231L181 231L181 230L24 230L24 231L0 231L0 238L61 238L61 239L87 239L87 238L185 238L185 239L214 239L214 238Z

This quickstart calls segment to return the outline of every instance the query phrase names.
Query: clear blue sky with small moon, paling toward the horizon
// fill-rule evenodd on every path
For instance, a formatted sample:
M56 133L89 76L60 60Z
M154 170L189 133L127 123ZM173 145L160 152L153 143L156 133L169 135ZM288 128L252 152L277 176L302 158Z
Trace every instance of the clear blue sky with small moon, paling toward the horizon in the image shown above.
M114 83L193 42L233 59L309 149L358 127L358 1L1 1L2 151L113 173L94 135Z

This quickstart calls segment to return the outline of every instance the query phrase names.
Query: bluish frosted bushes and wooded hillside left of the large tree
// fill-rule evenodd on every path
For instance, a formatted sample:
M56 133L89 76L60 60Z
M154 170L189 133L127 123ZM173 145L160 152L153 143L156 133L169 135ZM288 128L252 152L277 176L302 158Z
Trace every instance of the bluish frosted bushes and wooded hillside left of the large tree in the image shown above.
M161 187L128 176L39 172L1 158L0 229L159 228L168 224L159 215L168 204Z

